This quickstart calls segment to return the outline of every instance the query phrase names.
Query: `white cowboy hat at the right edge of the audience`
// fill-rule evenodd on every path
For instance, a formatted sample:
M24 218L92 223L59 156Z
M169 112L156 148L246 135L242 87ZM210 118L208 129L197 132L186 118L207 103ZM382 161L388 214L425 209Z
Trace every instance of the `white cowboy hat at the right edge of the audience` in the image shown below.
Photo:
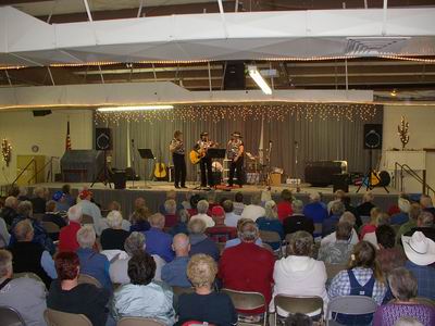
M421 231L414 231L412 237L401 236L405 253L414 264L427 266L435 263L435 242Z

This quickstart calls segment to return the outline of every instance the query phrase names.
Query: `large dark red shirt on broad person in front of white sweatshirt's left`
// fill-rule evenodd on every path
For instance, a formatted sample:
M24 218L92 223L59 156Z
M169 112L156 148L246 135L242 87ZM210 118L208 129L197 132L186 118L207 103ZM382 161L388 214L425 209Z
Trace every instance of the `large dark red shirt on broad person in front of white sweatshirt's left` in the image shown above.
M241 242L224 250L217 277L222 279L224 288L262 293L268 308L272 298L274 264L275 259L269 250L253 242ZM264 308L249 311L254 314L262 312Z

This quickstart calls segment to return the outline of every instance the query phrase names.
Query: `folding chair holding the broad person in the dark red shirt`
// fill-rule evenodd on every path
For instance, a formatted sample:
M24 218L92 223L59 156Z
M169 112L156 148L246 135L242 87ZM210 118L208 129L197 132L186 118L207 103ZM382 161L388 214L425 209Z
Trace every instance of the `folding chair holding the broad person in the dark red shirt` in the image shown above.
M236 310L254 310L264 308L262 325L265 326L268 322L268 306L265 303L264 296L259 292L246 292L236 291L231 289L222 289L221 292L226 293L233 301ZM239 315L240 318L240 315ZM258 325L258 323L247 323L243 321L243 324Z

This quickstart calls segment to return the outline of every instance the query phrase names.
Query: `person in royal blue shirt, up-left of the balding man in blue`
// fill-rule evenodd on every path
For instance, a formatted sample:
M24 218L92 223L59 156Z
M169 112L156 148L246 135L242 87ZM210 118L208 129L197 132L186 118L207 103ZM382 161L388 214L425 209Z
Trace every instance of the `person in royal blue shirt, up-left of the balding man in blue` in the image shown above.
M172 237L163 231L164 216L156 213L149 217L151 228L145 231L145 240L147 244L147 252L149 254L158 254L166 263L174 259L174 251L172 250Z

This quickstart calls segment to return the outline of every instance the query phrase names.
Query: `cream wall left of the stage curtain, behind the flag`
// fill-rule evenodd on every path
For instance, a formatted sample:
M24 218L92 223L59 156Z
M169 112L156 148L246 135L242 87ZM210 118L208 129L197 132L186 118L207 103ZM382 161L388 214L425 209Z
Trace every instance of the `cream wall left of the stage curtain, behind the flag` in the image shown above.
M34 116L32 110L0 112L0 139L12 145L12 161L9 167L0 162L0 185L16 177L16 155L47 155L61 158L65 150L66 124L70 118L70 135L73 149L92 147L92 111L55 110L46 116ZM34 153L32 147L39 151Z

